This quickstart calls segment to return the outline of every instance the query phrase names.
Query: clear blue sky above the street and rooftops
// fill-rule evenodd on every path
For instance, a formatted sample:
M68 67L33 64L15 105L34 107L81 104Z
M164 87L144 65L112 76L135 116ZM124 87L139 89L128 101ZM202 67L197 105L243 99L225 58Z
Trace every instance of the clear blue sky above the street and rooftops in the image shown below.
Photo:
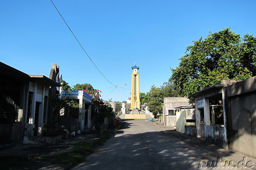
M127 100L131 66L140 92L160 87L200 36L231 27L254 34L256 1L52 0L86 53ZM70 86L89 83L115 100L115 86L92 64L50 0L0 1L0 61L27 74L49 76L52 63ZM105 93L104 93L105 92Z

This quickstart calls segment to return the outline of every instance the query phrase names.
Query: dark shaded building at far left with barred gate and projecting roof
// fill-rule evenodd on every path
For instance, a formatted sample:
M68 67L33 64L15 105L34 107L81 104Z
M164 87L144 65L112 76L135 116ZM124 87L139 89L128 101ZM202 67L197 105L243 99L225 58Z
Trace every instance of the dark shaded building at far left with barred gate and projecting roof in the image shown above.
M0 146L20 144L42 134L47 123L49 87L61 86L43 75L28 75L0 62ZM40 126L40 127L39 127Z

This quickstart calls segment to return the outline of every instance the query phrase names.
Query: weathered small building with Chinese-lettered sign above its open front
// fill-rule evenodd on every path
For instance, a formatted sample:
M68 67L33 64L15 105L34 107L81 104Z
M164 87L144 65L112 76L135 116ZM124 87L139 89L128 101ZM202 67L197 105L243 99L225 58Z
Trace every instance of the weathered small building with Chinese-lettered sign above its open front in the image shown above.
M223 80L191 95L196 102L196 137L228 148L225 88L237 81Z

